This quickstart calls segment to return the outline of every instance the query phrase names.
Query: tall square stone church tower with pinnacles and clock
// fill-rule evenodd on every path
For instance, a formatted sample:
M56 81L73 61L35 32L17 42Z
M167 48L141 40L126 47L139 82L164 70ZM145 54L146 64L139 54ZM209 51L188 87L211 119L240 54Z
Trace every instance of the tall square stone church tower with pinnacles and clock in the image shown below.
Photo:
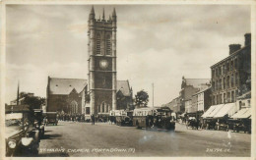
M96 19L92 7L88 21L88 65L91 114L116 110L116 13Z

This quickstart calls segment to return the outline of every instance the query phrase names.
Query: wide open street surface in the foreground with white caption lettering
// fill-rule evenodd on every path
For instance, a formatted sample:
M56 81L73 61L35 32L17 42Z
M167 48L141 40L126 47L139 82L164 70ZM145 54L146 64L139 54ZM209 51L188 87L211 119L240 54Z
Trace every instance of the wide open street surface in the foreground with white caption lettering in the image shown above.
M145 131L108 123L46 126L39 156L250 156L251 134L186 129Z

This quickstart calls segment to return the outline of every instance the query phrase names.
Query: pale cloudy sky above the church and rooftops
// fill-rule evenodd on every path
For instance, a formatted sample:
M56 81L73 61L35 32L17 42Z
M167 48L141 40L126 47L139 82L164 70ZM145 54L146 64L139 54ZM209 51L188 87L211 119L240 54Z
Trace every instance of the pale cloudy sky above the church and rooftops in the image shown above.
M117 80L144 89L152 105L177 97L181 80L211 79L210 67L244 45L246 5L95 5L117 14ZM91 5L7 5L6 103L20 90L46 97L47 77L88 79Z

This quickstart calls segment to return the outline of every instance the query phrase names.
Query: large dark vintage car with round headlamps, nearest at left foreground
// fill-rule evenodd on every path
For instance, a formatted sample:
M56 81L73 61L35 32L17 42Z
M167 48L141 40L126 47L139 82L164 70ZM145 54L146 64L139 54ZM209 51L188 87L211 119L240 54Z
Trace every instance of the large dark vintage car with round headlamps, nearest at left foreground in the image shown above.
M30 120L31 111L21 110L5 115L6 156L34 156L38 154L39 132Z

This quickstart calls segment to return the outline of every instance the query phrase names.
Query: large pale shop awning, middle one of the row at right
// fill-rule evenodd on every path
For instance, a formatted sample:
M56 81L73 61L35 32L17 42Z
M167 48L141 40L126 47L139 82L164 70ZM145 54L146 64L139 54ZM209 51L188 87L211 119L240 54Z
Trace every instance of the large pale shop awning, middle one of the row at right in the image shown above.
M235 103L226 103L221 109L213 116L214 118L221 118L224 115L231 116L235 113Z

